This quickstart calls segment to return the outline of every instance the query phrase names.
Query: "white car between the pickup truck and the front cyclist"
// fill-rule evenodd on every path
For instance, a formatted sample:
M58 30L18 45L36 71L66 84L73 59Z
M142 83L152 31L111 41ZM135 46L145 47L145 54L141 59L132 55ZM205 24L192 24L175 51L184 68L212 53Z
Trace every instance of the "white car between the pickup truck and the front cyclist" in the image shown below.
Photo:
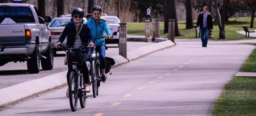
M58 18L54 18L52 20L52 22L48 25L48 29L51 31L51 35L52 35L52 45L54 46L54 43L56 43L60 36L61 33L63 32L66 24L70 23L70 19L71 17L58 17ZM83 18L83 22L86 23L87 20L85 18ZM66 39L64 40L63 44L66 44ZM56 49L54 48L54 54L57 53L57 50L60 51L62 49Z

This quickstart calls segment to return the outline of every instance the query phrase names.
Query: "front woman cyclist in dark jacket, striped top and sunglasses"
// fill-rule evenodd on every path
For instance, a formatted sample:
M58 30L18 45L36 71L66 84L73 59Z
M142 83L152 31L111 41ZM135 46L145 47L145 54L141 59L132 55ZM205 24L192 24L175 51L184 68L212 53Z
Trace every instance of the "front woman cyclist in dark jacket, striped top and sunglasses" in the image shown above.
M62 43L65 40L65 37L67 36L67 47L71 48L78 48L82 44L88 44L90 43L91 46L94 46L93 37L91 35L91 30L87 24L83 24L83 10L81 8L74 8L71 12L72 18L70 19L71 23L68 23L57 43L54 45L57 46L58 44ZM82 26L81 26L82 25ZM81 28L82 27L82 28ZM81 28L81 29L80 29ZM79 32L80 30L80 32ZM77 33L79 32L79 35ZM88 77L88 68L86 65L86 61L89 58L89 54L87 51L82 52L82 59L83 64L80 65L82 69L82 74L85 81L85 92L90 92L89 88L89 77ZM67 65L68 71L67 71L67 82L69 81L69 75L72 70L72 65ZM68 97L68 88L66 91L66 96Z

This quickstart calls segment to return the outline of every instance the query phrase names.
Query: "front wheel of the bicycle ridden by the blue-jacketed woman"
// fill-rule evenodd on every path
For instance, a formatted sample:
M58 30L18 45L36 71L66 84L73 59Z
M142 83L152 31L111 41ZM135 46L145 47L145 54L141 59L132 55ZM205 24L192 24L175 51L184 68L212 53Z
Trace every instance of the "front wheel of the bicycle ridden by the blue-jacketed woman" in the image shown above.
M91 82L92 82L92 93L93 97L97 94L97 75L96 75L96 62L92 60L91 62Z

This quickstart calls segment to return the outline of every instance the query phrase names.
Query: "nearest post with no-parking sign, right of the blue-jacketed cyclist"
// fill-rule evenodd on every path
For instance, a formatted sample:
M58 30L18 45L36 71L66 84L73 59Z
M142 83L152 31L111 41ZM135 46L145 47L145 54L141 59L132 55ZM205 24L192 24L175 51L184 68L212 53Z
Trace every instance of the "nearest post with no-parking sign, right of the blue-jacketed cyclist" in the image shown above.
M127 30L126 23L119 23L119 55L127 58Z

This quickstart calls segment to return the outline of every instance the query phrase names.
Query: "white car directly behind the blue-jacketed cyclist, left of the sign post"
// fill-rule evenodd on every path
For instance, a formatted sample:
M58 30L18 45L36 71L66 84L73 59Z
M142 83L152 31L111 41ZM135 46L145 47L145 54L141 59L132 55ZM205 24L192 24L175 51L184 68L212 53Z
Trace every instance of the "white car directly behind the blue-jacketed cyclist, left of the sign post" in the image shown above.
M105 43L106 44L117 43L119 45L120 20L118 19L117 16L101 16L101 17L107 20L111 33L117 32L117 35L113 35L113 39L105 39ZM107 35L105 31L104 31L104 35Z

